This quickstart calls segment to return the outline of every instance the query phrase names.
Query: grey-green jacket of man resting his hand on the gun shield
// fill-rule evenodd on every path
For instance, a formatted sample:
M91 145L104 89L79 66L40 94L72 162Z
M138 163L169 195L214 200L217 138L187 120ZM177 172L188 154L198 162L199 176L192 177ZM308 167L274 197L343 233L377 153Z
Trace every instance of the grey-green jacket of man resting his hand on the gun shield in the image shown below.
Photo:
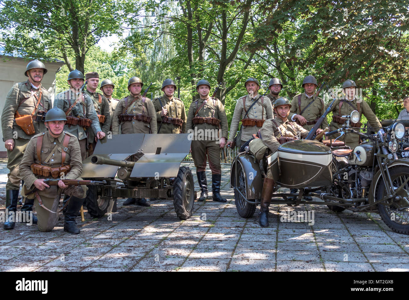
M87 118L91 120L91 127L88 130L84 130L84 128L80 125L68 125L65 124L64 131L70 132L74 134L78 139L81 141L82 139L87 138L87 131L93 132L97 134L97 132L102 131L99 125L99 120L97 116L97 112L95 112L94 105L92 104L92 100L88 94L83 93L83 101L78 101L76 103L75 108L78 111L78 116L80 118ZM67 112L68 108L72 104L74 104L76 100L76 96L72 90L66 90L57 95L54 101L54 107L58 107L59 109ZM85 110L85 114L84 114ZM68 114L68 116L74 116L72 111Z

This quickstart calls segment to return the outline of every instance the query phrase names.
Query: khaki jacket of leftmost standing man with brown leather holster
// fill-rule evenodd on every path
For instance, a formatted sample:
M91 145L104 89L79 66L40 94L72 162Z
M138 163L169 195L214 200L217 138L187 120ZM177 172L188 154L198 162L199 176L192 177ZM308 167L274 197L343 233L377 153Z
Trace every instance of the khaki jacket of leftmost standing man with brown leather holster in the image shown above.
M7 94L6 102L4 103L3 113L1 116L1 127L3 131L3 140L13 139L13 132L17 132L17 137L21 139L31 139L33 135L26 134L20 126L16 124L14 120L14 115L18 112L20 115L31 114L36 108L37 99L34 94L38 97L40 94L40 89L42 91L42 97L40 99L40 104L37 107L37 114L39 110L47 111L52 108L51 96L49 92L40 85L38 90L34 90L30 82L16 83L11 87L9 94ZM35 134L45 131L44 122L33 121ZM28 142L28 141L27 141Z

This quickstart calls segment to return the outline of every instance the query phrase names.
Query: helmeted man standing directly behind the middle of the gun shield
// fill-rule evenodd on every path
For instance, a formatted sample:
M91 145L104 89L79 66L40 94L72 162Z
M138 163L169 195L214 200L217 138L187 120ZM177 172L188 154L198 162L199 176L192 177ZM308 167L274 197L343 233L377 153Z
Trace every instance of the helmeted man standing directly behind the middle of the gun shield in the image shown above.
M132 77L128 81L129 95L121 99L112 120L112 134L157 133L155 107L150 99L142 96L142 80ZM124 205L150 206L145 198L128 198Z

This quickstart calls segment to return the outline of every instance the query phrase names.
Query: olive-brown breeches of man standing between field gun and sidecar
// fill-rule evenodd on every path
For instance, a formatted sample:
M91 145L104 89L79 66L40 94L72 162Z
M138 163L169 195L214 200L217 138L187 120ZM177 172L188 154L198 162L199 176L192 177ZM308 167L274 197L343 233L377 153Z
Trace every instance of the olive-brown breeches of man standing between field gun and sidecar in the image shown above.
M191 148L197 172L205 171L207 160L209 160L209 167L212 174L221 174L220 145L218 141L193 140Z

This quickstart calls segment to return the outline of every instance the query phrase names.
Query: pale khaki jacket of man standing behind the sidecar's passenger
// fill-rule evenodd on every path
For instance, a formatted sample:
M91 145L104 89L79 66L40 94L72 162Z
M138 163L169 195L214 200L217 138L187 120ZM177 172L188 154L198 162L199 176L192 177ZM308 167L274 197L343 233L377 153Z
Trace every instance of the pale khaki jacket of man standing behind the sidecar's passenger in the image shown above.
M257 95L256 99L258 99L259 96L261 95ZM239 129L238 123L240 122L241 119L244 118L246 114L245 110L243 109L243 98L245 98L245 104L246 104L247 111L249 110L249 107L253 104L253 101L255 101L254 99L250 99L249 95L243 96L237 100L236 107L234 108L233 119L231 119L230 134L229 134L228 141L233 141L234 137L236 136L236 132ZM262 99L258 100L258 102L252 107L252 109L247 114L246 119L267 120L273 117L273 109L271 107L270 98L264 96L263 102L261 100ZM263 107L264 107L264 113L263 113ZM257 126L243 126L243 131L241 133L241 140L248 141L249 139L252 138L252 134L257 133L260 128L261 127L257 127ZM237 141L237 144L240 145L240 142Z

